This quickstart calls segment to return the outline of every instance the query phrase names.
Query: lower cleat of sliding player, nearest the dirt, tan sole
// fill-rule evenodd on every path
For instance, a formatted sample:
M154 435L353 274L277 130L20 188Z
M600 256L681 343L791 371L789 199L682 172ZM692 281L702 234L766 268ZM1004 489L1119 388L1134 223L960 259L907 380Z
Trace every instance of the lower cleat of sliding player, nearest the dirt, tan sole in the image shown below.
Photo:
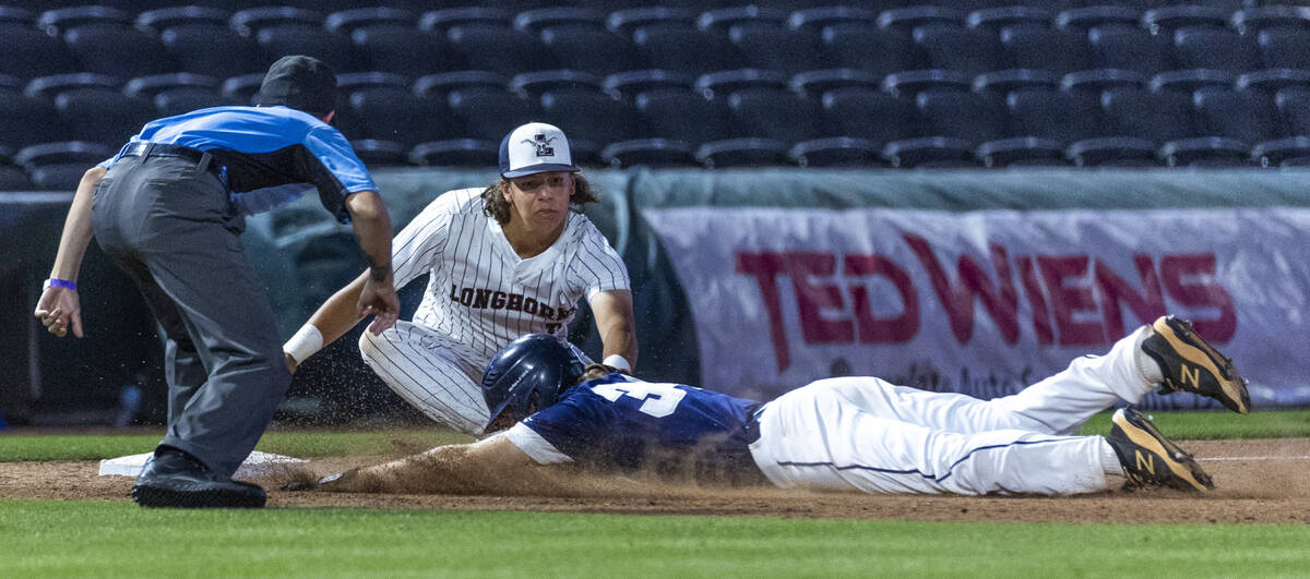
M1159 434L1149 418L1133 409L1115 411L1114 426L1106 436L1119 456L1131 486L1166 486L1178 490L1208 491L1214 489L1210 476L1201 470L1192 455L1183 452Z

